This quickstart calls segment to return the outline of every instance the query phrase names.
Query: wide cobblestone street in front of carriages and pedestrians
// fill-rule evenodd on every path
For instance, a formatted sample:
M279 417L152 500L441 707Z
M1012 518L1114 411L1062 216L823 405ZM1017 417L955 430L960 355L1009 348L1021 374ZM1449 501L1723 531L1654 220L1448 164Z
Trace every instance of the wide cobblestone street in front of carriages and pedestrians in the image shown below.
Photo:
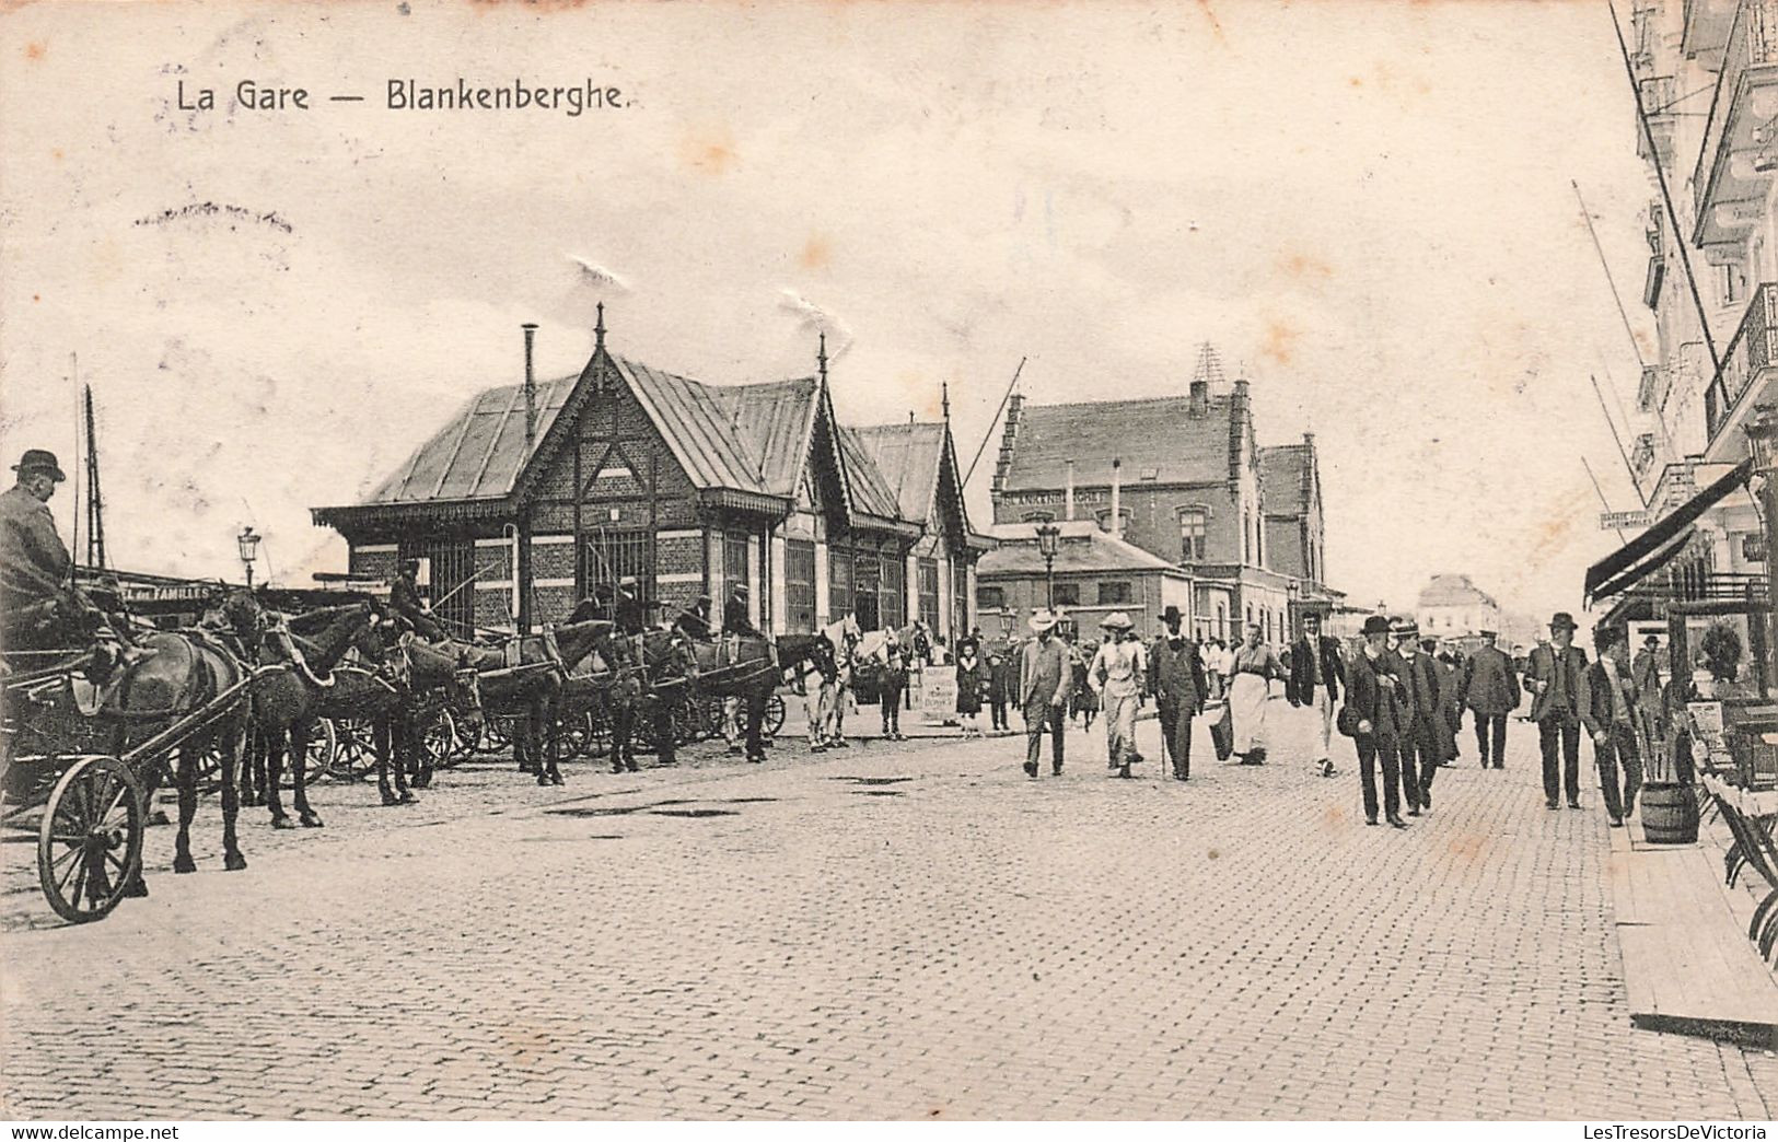
M875 712L866 712L873 717ZM1282 701L1273 719L1296 719ZM1778 1060L1629 1026L1597 792L1542 804L1531 728L1430 818L1367 829L1350 744L1189 784L1061 779L1022 738L784 738L420 806L244 811L251 868L53 927L9 847L16 1117L1590 1117L1778 1110ZM1293 760L1298 758L1298 760Z

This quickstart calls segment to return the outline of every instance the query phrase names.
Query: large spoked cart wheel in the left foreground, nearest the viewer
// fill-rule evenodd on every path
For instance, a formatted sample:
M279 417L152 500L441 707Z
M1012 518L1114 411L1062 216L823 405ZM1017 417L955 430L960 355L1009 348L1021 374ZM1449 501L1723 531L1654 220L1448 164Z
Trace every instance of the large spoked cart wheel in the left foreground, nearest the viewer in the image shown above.
M50 792L37 829L37 881L55 914L110 914L142 872L142 786L117 758L80 758Z

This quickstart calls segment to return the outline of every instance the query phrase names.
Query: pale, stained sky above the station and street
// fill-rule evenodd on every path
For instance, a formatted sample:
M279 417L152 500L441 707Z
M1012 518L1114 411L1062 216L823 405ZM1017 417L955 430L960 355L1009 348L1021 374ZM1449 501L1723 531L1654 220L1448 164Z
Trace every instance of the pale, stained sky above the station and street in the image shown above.
M1570 185L1650 333L1602 4L36 4L0 60L0 454L68 468L91 382L130 569L238 578L244 525L261 578L343 569L308 509L519 381L521 322L576 372L599 301L615 352L711 382L809 375L827 327L841 420L946 382L965 464L1021 358L1031 402L1152 397L1209 340L1261 443L1316 432L1366 605L1469 573L1579 610L1618 546L1582 457L1639 505ZM386 107L459 76L622 105Z

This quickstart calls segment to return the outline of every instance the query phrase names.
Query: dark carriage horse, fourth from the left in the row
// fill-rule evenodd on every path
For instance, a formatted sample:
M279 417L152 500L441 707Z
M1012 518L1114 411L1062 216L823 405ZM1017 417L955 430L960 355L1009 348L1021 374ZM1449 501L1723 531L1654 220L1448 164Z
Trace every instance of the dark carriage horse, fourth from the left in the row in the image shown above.
M523 635L507 647L443 644L455 647L461 663L475 671L477 710L519 715L512 752L519 772L537 774L537 784L562 784L555 724L562 685L610 628L606 619L583 619L541 635Z

